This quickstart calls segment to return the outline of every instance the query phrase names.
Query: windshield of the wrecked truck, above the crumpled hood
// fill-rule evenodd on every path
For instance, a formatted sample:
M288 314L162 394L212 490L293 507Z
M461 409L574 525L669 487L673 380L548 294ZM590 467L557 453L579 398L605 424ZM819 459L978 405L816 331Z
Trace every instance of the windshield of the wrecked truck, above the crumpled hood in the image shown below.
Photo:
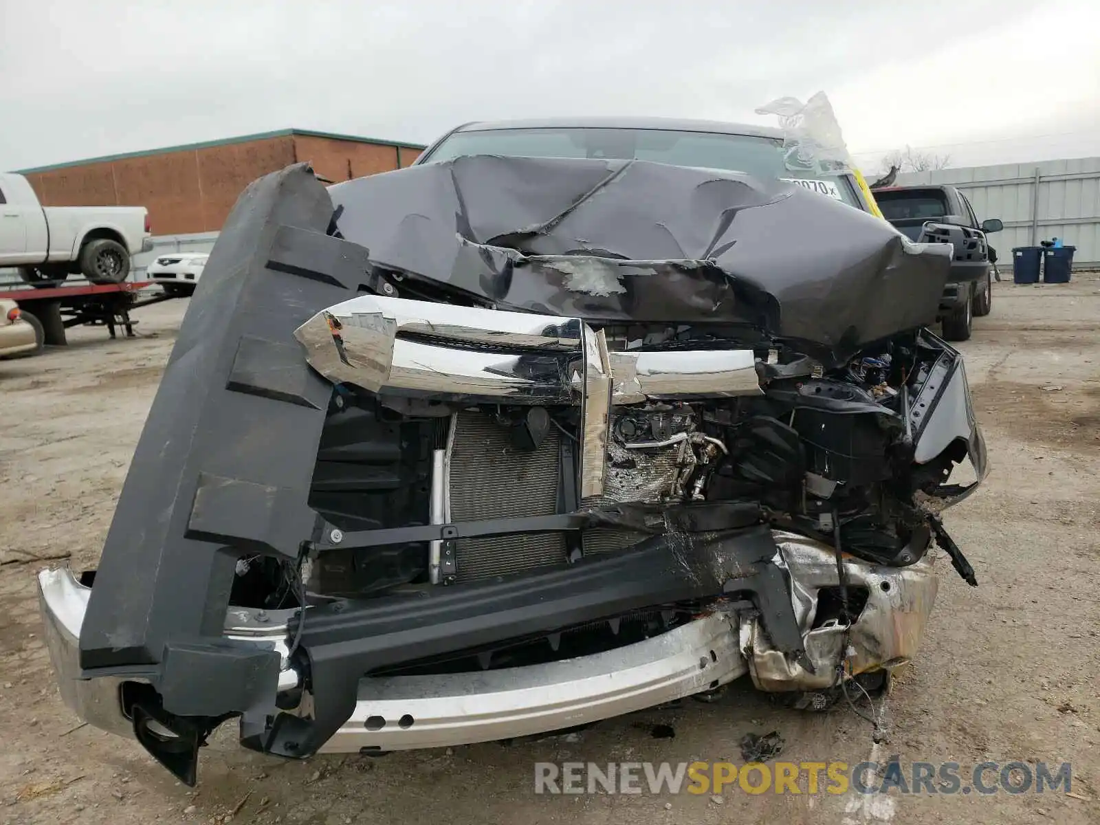
M666 129L486 129L455 132L421 163L443 163L464 155L637 160L744 172L790 180L862 208L843 172L823 175L791 168L782 141L773 138Z

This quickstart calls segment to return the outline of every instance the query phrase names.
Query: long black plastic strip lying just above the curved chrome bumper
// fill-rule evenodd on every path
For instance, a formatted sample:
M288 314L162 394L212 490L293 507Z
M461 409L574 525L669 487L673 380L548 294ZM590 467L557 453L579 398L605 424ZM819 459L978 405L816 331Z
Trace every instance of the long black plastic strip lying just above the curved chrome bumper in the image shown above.
M678 532L560 569L314 607L300 629L312 718L280 714L263 736L243 743L308 757L351 716L360 679L373 670L724 593L752 594L776 647L801 658L802 636L776 553L767 526Z

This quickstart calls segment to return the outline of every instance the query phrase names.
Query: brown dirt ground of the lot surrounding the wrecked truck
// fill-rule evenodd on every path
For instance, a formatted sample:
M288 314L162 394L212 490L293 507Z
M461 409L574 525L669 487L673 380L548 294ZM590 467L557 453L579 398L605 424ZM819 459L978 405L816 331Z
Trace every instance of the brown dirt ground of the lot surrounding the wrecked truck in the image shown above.
M963 344L992 472L946 521L980 586L941 558L922 653L890 697L890 741L847 710L772 707L748 688L569 737L505 747L287 762L219 736L197 791L138 745L74 729L41 642L33 575L95 566L185 301L143 310L142 337L75 330L67 350L0 362L0 822L351 823L1100 822L1100 279L998 284ZM52 562L54 564L59 562ZM668 725L674 738L653 738ZM1072 795L537 796L540 760L729 759L779 730L784 759L1072 762ZM969 779L964 770L964 779Z

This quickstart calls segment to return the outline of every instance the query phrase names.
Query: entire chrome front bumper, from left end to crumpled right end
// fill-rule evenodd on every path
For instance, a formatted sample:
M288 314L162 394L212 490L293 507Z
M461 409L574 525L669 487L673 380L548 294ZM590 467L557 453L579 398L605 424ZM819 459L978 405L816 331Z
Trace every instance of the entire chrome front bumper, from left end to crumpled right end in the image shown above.
M769 692L829 688L844 626L836 620L814 624L820 588L837 584L833 550L792 534L777 532L776 539L776 563L788 572L814 673L771 647L755 613L712 613L661 636L576 659L476 673L363 679L354 712L321 751L406 750L539 734L652 707L746 673ZM848 584L869 593L848 634L855 650L851 672L910 661L936 597L931 559L886 568L846 557L844 564ZM78 639L90 593L66 569L38 574L50 657L65 704L96 727L132 736L120 697L122 679L80 679ZM230 608L226 617L227 638L283 654L279 693L301 681L286 661L290 614ZM307 694L299 711L309 712L311 703Z

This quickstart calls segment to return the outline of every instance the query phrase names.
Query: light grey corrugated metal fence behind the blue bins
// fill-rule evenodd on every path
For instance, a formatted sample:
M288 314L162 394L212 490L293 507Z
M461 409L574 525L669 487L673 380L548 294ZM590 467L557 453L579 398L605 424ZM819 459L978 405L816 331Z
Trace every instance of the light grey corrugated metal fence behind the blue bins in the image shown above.
M990 242L1005 266L1013 246L1060 238L1076 246L1074 270L1100 268L1100 157L911 172L897 185L949 184L964 191L978 220L1000 218Z

